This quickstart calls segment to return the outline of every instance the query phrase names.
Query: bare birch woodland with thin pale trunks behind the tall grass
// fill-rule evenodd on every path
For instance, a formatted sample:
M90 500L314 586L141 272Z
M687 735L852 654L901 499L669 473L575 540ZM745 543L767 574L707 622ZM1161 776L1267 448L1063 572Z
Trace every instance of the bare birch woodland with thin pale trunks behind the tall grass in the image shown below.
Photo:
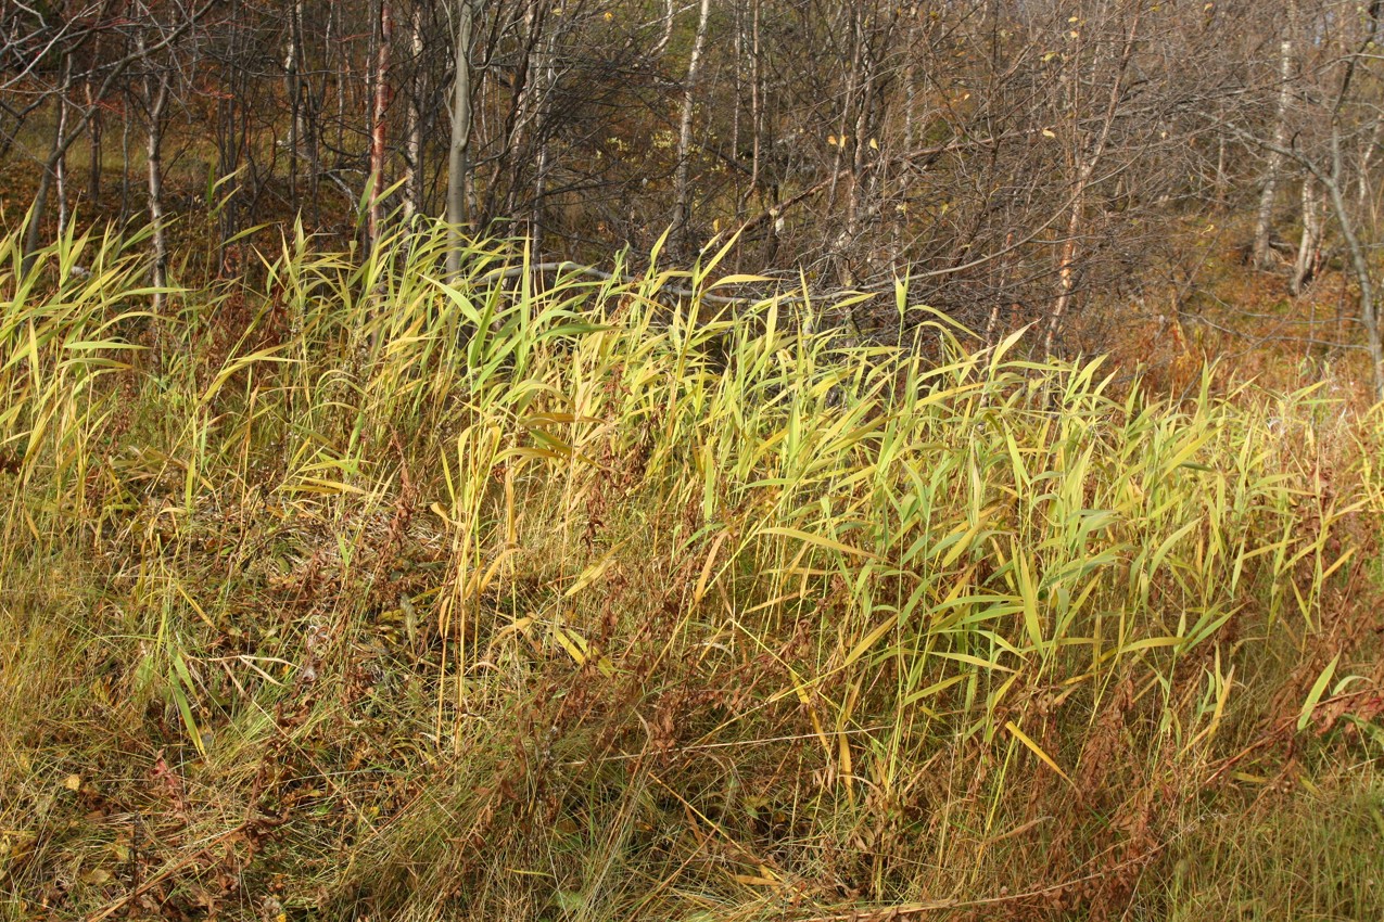
M159 274L173 218L197 214L183 232L220 275L245 271L246 229L295 216L365 247L440 217L536 261L648 260L671 228L685 263L735 234L736 271L907 276L991 340L1037 322L1048 351L1092 305L1088 351L1129 311L1200 315L1214 258L1291 294L1337 268L1348 303L1293 333L1363 347L1367 369L1378 18L1355 0L7 3L0 156L30 250L69 214L149 224Z

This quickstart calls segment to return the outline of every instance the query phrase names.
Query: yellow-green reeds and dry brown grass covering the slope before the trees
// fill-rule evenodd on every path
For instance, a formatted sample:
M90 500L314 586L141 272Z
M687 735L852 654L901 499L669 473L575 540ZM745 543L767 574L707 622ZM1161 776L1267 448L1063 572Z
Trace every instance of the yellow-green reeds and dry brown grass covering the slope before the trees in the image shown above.
M443 242L3 243L7 918L1384 915L1377 416Z

